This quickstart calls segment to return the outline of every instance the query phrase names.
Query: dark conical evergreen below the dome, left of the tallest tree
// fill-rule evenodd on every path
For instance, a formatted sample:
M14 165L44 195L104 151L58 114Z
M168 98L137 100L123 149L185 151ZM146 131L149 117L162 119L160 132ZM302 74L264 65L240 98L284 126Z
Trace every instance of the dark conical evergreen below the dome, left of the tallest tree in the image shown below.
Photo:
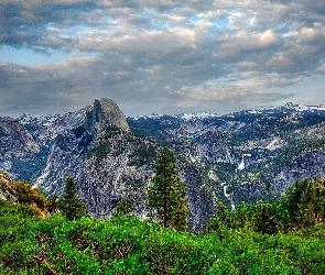
M68 176L66 179L64 194L58 201L58 208L68 220L76 220L88 216L88 209L79 198L72 176Z

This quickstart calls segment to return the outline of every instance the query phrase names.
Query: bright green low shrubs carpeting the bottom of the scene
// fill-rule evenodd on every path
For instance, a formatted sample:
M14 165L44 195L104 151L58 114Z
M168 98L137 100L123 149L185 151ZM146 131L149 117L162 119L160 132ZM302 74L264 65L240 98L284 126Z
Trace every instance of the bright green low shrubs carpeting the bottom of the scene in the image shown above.
M204 235L118 216L37 219L0 200L0 274L325 274L325 227Z

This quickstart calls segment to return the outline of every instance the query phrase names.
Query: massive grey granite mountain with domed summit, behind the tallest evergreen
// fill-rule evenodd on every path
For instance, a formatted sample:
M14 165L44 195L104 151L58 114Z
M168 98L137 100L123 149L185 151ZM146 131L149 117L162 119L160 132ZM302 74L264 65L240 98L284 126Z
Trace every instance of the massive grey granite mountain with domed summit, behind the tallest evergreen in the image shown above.
M62 194L72 175L93 217L110 217L117 204L128 199L134 215L144 218L152 212L145 205L147 187L159 150L158 144L129 131L113 101L96 100L84 121L56 135L35 184L48 194ZM199 230L214 215L212 191L198 169L178 165L178 170L188 188L192 228Z

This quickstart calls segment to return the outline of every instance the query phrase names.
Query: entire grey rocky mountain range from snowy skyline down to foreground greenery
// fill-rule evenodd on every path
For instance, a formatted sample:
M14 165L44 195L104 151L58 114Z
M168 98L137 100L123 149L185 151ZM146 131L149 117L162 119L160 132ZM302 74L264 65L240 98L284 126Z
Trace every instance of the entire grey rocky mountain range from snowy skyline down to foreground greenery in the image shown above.
M296 180L325 177L324 132L323 106L126 118L112 100L99 99L65 114L0 118L0 169L45 195L62 194L72 175L93 217L110 217L128 199L145 218L147 186L167 145L196 231L218 200L232 208L273 200Z

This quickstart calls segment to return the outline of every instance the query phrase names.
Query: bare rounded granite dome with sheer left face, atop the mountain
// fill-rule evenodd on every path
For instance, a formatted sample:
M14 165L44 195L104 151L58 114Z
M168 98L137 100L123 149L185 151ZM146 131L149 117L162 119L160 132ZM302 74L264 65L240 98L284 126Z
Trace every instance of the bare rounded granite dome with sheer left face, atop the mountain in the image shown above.
M96 123L117 127L123 131L130 131L124 114L111 99L95 100L94 109L87 113L87 127L91 131Z

